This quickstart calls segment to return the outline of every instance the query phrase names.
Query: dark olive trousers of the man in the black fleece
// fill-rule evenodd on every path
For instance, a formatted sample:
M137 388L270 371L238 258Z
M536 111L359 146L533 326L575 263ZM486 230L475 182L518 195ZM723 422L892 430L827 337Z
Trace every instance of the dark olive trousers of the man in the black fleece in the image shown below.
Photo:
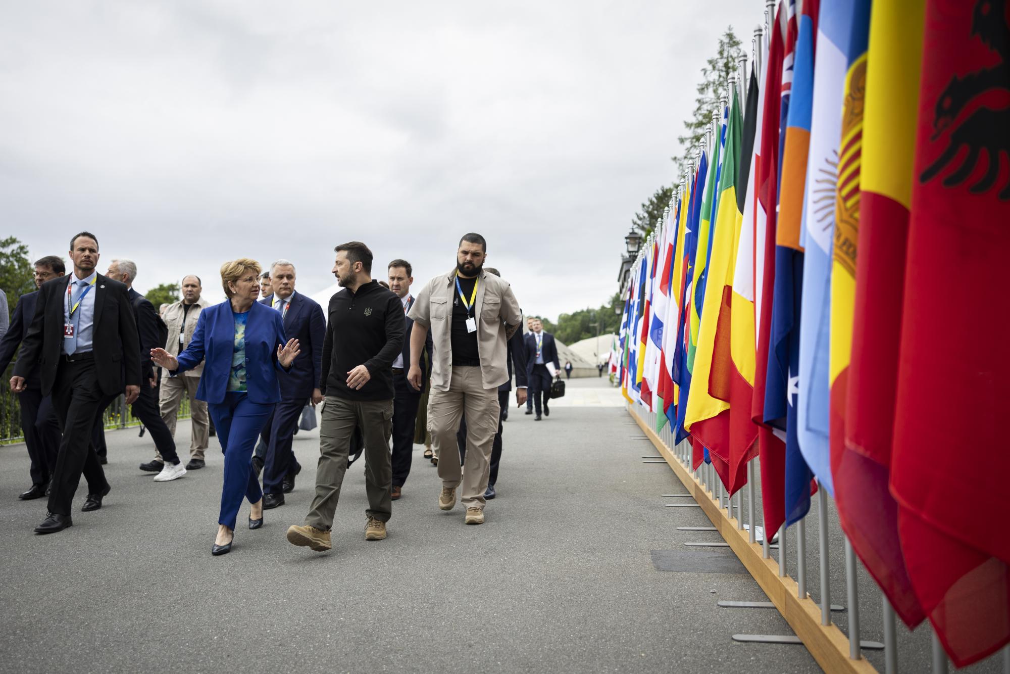
M365 440L365 491L369 497L365 513L380 521L389 521L393 514L393 462L389 450L393 401L358 402L329 395L319 421L316 493L305 516L309 526L324 532L333 526L355 427L362 429Z

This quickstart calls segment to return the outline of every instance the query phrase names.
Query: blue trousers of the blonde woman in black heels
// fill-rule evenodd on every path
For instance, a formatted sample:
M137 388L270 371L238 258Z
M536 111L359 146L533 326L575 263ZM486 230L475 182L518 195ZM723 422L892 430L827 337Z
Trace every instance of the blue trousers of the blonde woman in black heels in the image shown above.
M230 391L224 394L224 402L207 403L207 410L214 419L224 453L224 486L221 487L221 514L217 523L234 531L242 497L249 503L263 498L250 462L256 441L274 411L274 403L250 402L244 392Z

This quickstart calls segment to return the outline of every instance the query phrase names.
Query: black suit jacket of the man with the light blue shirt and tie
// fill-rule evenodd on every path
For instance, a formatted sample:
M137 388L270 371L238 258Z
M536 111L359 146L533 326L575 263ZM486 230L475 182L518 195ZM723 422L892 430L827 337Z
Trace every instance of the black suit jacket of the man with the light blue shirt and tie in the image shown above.
M63 353L64 302L67 286L74 274L42 284L35 299L31 327L21 342L21 356L14 374L27 379L35 364L41 368L42 395L48 395L57 381L57 368ZM137 336L133 307L124 284L98 275L95 281L95 325L92 352L95 376L106 395L116 395L125 385L140 386L140 338Z

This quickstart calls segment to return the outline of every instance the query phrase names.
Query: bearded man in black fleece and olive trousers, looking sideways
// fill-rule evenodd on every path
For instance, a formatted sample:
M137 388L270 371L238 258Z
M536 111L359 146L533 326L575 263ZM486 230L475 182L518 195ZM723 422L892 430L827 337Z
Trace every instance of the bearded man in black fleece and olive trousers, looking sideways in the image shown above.
M393 361L403 347L403 305L372 280L372 251L350 242L336 247L333 274L343 290L329 300L322 348L324 396L319 424L316 493L303 526L291 526L288 541L323 552L347 470L355 428L365 439L365 484L369 496L366 541L386 538L393 511L389 437L393 424Z

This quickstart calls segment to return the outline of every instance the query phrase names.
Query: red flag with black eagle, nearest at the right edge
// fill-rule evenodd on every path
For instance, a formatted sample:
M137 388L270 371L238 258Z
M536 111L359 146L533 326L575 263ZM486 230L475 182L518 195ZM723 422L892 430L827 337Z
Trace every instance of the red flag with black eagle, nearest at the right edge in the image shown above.
M922 55L891 491L963 667L1010 644L1010 3L928 0Z

